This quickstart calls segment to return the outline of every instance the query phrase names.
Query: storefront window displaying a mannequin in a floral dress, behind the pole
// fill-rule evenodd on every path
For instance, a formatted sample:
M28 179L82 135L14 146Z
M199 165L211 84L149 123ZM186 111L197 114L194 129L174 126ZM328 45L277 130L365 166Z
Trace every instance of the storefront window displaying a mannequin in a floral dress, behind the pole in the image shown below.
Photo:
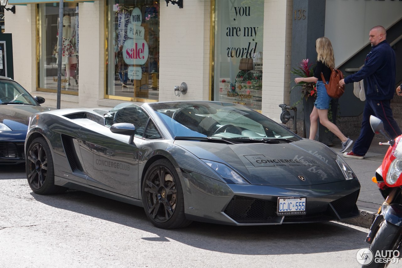
M39 91L57 91L59 4L38 4ZM62 93L78 94L78 4L65 3L62 40Z

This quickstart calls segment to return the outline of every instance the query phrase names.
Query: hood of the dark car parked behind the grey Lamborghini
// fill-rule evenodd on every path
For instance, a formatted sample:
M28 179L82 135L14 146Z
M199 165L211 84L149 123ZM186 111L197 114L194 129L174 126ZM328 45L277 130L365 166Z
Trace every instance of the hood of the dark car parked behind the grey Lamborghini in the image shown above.
M0 123L5 124L14 131L27 131L29 117L34 113L39 113L43 111L50 111L50 109L37 105L0 105Z

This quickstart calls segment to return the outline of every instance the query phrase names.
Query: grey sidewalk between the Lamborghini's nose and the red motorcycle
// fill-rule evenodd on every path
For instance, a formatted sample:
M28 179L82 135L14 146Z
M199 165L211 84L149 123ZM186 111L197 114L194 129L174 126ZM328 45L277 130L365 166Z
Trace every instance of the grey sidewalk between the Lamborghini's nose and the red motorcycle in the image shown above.
M357 140L357 136L350 138L354 141ZM338 138L334 139L334 145L330 147L338 153L338 155L342 156L349 167L351 167L361 185L359 198L357 199L357 207L360 210L360 216L348 220L347 223L369 228L378 208L384 202L384 198L381 196L377 184L371 181L371 178L375 176L375 170L381 165L384 155L389 148L388 145L379 145L379 142L387 142L387 140L385 138L373 139L364 159L347 158L343 157L343 153L338 153L341 147L341 142ZM348 148L347 152L352 150L352 147L353 144Z

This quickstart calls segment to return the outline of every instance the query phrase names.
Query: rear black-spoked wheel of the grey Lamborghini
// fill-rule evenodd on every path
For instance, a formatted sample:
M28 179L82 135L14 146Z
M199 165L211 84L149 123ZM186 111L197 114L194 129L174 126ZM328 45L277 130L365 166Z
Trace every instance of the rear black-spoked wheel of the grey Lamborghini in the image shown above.
M35 138L28 146L25 171L29 187L35 194L58 194L67 188L54 184L54 166L46 140Z

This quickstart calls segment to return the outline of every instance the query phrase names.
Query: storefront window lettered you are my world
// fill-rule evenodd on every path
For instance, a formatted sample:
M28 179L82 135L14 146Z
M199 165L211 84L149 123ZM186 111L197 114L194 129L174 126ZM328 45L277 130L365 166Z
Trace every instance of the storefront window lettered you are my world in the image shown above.
M261 109L263 0L215 0L214 99Z

